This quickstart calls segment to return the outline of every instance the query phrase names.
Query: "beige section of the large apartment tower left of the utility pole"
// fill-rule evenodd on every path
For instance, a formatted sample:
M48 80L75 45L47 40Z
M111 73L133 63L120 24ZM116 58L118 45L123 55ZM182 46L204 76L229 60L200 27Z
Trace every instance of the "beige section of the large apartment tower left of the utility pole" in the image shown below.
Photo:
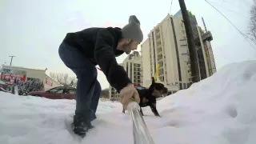
M150 86L159 64L158 82L164 83L170 94L186 89L191 82L189 59L182 18L168 14L142 43L143 85Z

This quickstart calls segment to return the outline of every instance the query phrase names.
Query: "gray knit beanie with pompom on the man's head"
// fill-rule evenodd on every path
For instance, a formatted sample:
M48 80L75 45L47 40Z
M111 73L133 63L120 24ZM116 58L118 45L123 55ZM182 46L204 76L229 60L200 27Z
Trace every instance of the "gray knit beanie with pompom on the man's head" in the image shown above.
M143 34L141 30L141 23L135 15L131 15L129 18L129 24L122 28L122 37L142 42Z

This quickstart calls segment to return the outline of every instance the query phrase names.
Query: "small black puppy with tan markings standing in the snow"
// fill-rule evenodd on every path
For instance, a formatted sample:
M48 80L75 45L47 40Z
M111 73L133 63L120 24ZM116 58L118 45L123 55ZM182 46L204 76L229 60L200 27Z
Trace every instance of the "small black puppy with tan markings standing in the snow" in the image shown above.
M156 109L156 98L161 97L162 94L167 94L167 92L167 88L162 83L155 82L154 77L152 77L152 83L149 89L138 90L139 98L141 99L139 102L141 114L144 115L142 112L142 107L150 106L154 115L160 117L158 110ZM122 108L122 113L125 114L124 107Z

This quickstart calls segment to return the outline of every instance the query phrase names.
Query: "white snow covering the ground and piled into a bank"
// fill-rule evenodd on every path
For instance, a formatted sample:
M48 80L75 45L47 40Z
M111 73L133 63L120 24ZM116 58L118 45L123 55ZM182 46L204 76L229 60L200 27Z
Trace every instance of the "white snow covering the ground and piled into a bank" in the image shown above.
M143 108L156 144L256 143L256 61L223 67L216 74L158 101L162 118ZM1 144L133 143L129 114L119 102L99 102L95 128L86 138L66 130L75 101L0 92Z

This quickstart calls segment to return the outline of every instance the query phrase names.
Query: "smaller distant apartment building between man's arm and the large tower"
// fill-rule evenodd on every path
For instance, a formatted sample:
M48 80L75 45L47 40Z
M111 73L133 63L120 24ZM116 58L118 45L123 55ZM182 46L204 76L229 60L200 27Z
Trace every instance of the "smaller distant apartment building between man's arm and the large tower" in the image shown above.
M126 73L128 74L128 77L130 78L131 82L134 84L143 85L143 77L142 77L142 57L138 53L138 51L134 51L131 54L129 54L126 59L122 62L122 64L119 64L126 70ZM110 97L118 97L118 92L110 86Z

